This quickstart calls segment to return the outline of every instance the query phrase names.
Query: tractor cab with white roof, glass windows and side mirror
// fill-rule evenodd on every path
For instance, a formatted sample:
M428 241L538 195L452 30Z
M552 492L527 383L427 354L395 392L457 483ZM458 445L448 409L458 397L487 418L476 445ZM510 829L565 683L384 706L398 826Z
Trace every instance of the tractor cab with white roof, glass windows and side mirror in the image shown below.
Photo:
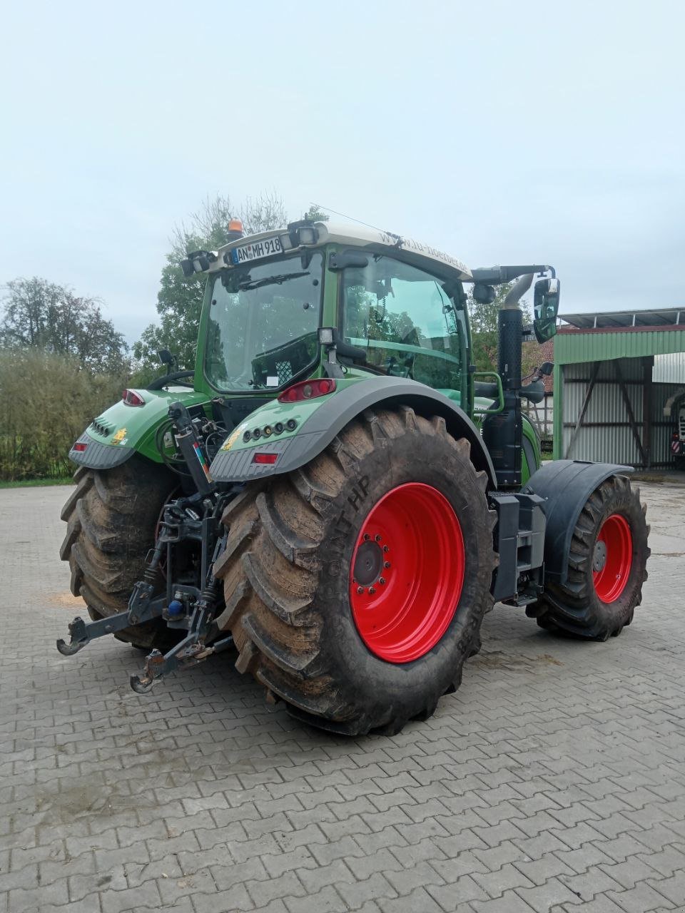
M472 415L479 382L464 284L474 276L455 257L364 226L302 220L249 237L235 231L224 247L195 251L182 266L187 276L208 277L195 389L230 397L234 410L306 378L352 380L362 371L426 384ZM547 268L511 269L516 278ZM478 272L486 294L509 278ZM553 300L550 282L535 287L544 338L558 305L558 283Z

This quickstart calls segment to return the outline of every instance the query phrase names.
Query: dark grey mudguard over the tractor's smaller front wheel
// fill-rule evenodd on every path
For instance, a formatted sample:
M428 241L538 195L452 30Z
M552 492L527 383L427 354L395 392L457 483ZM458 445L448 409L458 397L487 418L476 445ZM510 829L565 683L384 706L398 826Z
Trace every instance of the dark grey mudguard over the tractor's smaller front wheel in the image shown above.
M559 459L547 463L528 480L523 494L543 498L546 519L544 534L544 579L564 583L574 527L585 501L609 476L625 475L633 467L620 463L583 463Z

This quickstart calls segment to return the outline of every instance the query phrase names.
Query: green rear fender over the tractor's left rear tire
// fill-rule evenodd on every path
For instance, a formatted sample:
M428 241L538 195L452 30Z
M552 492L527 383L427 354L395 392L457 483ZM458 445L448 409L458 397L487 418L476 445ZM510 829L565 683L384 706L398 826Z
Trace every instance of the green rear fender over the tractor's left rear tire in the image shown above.
M90 469L111 469L121 466L134 453L140 453L154 463L161 463L154 437L168 418L169 405L181 402L190 407L209 403L206 394L187 387L135 392L145 404L127 405L120 401L98 415L69 450L72 462ZM77 446L79 449L75 449Z

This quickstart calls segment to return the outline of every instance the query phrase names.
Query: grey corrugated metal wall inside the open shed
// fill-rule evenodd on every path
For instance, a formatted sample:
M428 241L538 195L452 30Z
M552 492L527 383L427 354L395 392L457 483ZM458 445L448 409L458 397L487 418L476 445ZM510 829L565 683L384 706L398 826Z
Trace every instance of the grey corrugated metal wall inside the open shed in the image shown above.
M593 363L564 364L562 446L558 456L626 463L635 467L643 465L642 454L631 430L626 402L617 380L615 363L618 363L627 398L638 425L638 436L644 445L643 362L638 358L622 358L600 363L583 424L575 436L575 424L583 409L585 394L593 373ZM680 386L679 383L652 385L649 456L651 465L655 467L669 466L672 462L670 436L673 423L664 418L663 407L669 396Z

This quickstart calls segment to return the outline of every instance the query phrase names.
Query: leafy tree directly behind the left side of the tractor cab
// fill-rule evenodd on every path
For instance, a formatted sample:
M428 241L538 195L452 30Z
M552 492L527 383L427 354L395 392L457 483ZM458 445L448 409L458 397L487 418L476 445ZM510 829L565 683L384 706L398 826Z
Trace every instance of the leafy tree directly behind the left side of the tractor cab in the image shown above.
M147 382L158 373L160 349L173 352L181 367L193 367L206 277L184 277L180 262L190 251L216 250L227 244L228 223L233 218L241 220L246 235L285 226L287 222L283 202L274 193L248 197L242 205L217 194L213 200L207 197L187 223L176 226L157 295L159 323L146 327L133 346L134 358L139 362L138 383Z

